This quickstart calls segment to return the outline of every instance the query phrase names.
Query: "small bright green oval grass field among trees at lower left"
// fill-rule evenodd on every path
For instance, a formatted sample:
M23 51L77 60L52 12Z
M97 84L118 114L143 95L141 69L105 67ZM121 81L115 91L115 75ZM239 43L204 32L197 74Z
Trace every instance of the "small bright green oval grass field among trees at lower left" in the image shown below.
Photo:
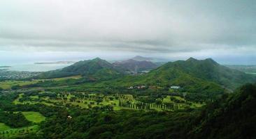
M28 111L28 112L22 112L24 117L27 118L27 120L35 123L39 123L45 120L45 117L41 115L41 113L34 112L34 111Z

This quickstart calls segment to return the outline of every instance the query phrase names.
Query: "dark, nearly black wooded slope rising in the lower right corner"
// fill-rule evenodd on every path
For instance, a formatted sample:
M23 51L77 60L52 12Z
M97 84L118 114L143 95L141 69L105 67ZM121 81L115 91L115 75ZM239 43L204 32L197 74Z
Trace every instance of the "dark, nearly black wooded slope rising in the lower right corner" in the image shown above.
M209 104L194 120L190 138L256 138L256 85Z

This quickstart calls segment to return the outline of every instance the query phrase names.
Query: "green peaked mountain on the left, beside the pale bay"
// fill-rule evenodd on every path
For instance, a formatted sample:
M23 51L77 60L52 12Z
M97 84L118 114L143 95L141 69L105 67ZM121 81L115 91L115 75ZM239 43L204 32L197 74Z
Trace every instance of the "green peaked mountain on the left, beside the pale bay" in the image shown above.
M38 79L52 79L66 76L81 75L90 80L112 79L113 77L120 76L120 72L115 70L111 63L101 58L94 58L92 60L83 60L64 67L60 70L44 72L36 76Z

